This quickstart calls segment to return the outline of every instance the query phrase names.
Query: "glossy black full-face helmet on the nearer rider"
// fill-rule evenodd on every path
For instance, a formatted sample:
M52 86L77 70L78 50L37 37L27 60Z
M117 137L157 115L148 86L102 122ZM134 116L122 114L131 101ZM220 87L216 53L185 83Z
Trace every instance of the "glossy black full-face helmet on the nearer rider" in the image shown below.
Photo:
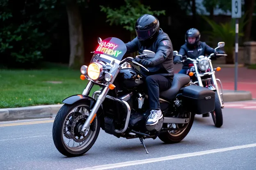
M140 42L153 40L159 33L159 21L152 15L144 14L135 23L135 31Z

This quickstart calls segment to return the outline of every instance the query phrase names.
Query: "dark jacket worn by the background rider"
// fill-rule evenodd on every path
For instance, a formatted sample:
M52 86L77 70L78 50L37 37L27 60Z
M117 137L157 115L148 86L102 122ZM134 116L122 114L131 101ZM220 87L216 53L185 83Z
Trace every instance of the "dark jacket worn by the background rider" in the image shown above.
M201 42L199 41L197 43L197 46L195 47L190 47L187 45L187 42L181 46L180 51L178 52L178 54L182 55L182 56L187 56L187 58L192 58L192 59L196 59L197 57L201 56L201 55L210 55L212 53L214 53L215 50L210 47L209 45L207 45L205 42ZM176 56L174 56L175 58ZM178 56L177 56L178 57ZM190 60L186 60L183 63L183 68L187 67L188 64L192 64L193 62Z

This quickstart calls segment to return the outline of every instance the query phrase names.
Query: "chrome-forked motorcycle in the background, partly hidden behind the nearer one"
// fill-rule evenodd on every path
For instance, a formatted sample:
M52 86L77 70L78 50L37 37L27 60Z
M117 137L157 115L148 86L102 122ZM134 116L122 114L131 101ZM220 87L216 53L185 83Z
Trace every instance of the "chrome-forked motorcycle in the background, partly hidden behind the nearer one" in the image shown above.
M225 42L219 42L218 46L215 48L215 51L221 47L225 46ZM189 68L187 69L187 75L190 76L191 81L196 85L201 87L206 87L215 92L215 110L206 114L212 115L213 122L217 128L220 128L223 125L223 116L222 116L222 108L224 108L223 102L223 87L221 81L216 78L215 70L220 71L221 68L213 68L212 62L210 58L214 55L217 56L227 56L226 54L210 54L210 56L199 56L196 59L187 58L187 56L182 56L178 54L178 51L174 51L174 56L181 56L183 60L178 63L183 63L185 60L190 60L193 64L189 64ZM174 64L178 64L174 63ZM220 84L220 89L218 87L217 81ZM219 91L221 90L221 91ZM203 114L203 117L204 116Z

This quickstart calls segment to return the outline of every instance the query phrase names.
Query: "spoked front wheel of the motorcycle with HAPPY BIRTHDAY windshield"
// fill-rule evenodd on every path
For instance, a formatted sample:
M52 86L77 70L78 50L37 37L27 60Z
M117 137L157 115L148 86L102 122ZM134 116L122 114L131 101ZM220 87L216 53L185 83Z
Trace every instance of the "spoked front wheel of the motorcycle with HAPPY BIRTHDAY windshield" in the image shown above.
M57 113L53 123L53 141L63 155L80 156L95 143L100 131L100 120L97 117L86 132L81 131L90 110L86 104L64 104Z

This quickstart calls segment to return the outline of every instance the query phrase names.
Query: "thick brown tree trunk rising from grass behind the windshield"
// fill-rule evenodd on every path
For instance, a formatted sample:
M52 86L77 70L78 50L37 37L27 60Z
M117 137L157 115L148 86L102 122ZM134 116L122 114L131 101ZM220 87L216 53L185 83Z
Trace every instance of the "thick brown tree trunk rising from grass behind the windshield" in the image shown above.
M75 0L66 0L66 10L69 19L70 56L69 67L80 68L84 64L84 40L82 20L79 7Z

